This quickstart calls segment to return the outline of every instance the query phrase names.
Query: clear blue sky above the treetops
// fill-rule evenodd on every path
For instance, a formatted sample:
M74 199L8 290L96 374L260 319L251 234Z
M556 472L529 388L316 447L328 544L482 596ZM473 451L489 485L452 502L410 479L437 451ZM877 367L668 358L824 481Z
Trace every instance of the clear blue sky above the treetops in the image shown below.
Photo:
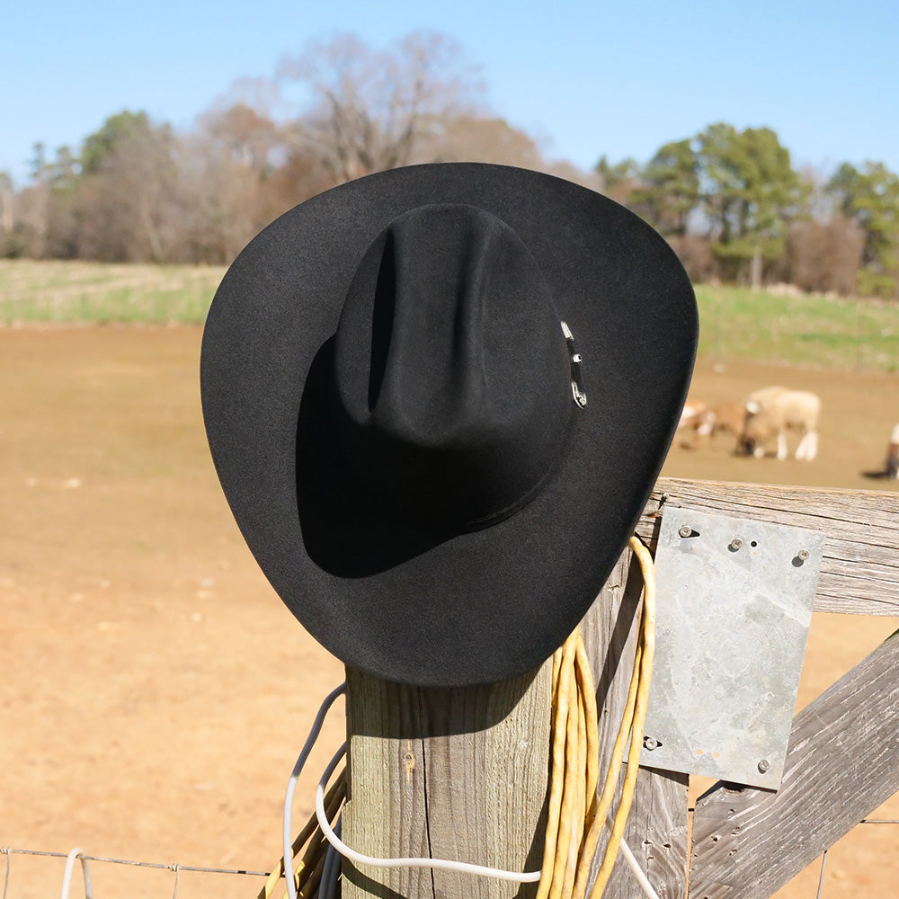
M493 110L583 168L725 120L775 129L795 165L899 171L897 0L2 0L0 170L21 185L35 141L78 147L122 109L190 129L309 40L418 29L457 40Z

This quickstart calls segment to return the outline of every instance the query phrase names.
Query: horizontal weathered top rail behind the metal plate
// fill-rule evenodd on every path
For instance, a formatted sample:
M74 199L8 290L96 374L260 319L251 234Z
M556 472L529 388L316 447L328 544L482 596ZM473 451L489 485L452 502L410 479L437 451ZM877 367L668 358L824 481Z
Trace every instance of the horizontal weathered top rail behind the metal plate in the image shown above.
M663 477L637 528L645 539L665 505L821 531L814 610L899 615L899 494Z

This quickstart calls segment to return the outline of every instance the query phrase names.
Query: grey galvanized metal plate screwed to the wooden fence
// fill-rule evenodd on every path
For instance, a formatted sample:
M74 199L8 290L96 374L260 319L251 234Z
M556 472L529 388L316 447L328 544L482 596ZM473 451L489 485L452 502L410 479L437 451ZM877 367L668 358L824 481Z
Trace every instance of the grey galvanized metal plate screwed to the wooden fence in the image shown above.
M641 764L779 788L823 542L665 507Z

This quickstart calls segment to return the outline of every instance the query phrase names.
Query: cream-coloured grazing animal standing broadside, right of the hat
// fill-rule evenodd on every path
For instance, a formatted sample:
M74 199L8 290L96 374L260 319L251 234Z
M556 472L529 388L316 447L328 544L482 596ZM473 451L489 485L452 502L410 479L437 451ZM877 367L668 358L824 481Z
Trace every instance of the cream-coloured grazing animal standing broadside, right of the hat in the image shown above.
M746 422L740 447L748 455L761 458L766 441L777 441L777 457L787 458L787 432L801 437L796 458L811 461L818 454L818 419L821 398L807 390L763 387L746 397Z

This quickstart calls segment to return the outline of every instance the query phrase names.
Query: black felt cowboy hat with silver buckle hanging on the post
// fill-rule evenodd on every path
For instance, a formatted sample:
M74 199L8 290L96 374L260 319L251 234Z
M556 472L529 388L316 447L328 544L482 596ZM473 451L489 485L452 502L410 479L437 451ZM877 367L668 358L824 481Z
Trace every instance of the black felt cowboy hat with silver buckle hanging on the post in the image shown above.
M696 351L685 272L593 191L417 165L237 257L203 334L209 446L281 599L392 681L546 659L625 546Z

